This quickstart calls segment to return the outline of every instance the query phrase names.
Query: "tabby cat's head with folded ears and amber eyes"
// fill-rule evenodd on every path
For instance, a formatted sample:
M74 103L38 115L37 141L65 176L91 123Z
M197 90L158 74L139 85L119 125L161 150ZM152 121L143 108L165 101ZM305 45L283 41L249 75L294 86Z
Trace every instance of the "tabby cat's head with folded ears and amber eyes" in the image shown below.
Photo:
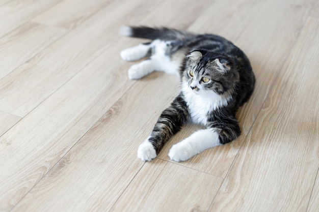
M229 97L239 82L231 58L206 50L195 50L187 55L183 74L183 83L198 94L213 91Z

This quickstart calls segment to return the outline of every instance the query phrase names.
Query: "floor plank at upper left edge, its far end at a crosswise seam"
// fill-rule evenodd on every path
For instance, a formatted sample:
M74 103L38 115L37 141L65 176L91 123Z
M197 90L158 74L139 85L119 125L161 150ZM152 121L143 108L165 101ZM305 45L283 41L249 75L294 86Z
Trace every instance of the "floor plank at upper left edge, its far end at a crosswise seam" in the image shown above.
M34 57L65 33L66 30L64 29L27 22L1 38L0 79Z

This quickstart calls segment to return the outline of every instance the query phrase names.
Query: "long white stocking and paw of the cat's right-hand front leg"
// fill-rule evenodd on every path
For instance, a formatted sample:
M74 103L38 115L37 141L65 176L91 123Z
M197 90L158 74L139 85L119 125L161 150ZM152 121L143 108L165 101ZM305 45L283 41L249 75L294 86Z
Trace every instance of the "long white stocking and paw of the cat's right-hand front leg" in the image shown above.
M221 145L219 135L214 128L199 130L172 146L168 156L173 161L185 161L203 152L207 148Z

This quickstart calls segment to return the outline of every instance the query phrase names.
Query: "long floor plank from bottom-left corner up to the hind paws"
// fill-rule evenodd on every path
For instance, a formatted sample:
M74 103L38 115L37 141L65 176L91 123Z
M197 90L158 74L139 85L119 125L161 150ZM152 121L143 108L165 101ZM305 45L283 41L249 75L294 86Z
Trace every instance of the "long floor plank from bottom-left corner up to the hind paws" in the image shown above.
M118 66L114 51L119 49L106 51L0 137L2 210L12 209L132 85L123 80L127 66Z

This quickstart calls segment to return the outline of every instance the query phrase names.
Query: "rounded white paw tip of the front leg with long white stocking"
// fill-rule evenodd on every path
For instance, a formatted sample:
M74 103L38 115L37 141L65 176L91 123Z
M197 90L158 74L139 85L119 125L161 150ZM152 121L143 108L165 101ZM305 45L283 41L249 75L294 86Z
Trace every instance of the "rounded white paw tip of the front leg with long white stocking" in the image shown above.
M176 162L186 161L194 155L196 155L196 153L193 152L192 147L182 142L173 145L168 154L170 159Z

